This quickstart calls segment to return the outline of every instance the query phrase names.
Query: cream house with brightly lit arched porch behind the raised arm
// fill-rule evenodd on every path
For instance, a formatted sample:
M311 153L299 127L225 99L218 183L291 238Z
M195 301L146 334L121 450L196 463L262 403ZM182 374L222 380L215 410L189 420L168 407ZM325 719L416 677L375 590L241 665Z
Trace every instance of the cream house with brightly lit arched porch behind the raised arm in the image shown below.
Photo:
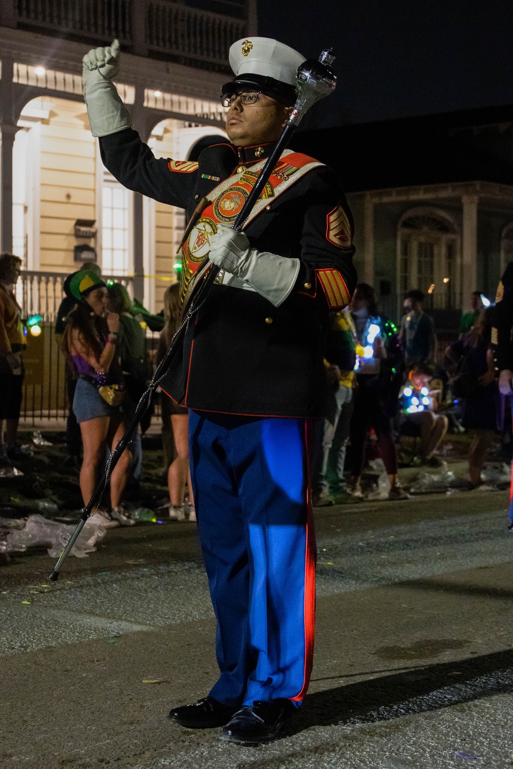
M156 156L185 159L200 138L225 135L228 48L256 32L254 3L236 6L224 15L172 0L2 0L0 245L22 258L26 311L51 319L65 276L91 257L148 310L162 308L184 214L122 188L103 167L82 56L118 38L115 85L135 129Z

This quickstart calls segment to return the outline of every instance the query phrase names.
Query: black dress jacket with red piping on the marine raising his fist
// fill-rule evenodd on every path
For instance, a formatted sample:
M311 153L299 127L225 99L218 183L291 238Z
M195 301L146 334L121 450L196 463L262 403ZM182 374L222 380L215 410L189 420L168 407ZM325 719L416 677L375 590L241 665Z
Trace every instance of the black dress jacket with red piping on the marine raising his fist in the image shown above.
M200 198L264 159L272 145L227 143L203 150L198 163L172 161L155 158L127 128L102 137L100 148L122 185L185 208L189 218ZM245 234L258 251L300 260L294 288L275 307L255 291L213 285L162 387L198 411L320 417L328 314L348 303L356 284L352 218L335 171L311 168L271 200Z

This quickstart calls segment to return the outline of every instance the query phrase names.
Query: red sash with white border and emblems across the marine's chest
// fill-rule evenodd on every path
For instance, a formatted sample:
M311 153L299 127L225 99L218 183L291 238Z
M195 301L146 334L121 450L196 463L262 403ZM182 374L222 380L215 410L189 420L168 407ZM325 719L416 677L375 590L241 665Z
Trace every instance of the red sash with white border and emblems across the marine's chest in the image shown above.
M221 184L217 185L208 195L210 203L202 211L201 217L195 222L190 235L182 247L182 283L180 298L183 301L187 287L192 276L210 251L210 238L218 231L219 223L232 224L248 199L249 193L255 185L261 169L265 166L265 160L260 161L247 170L233 174ZM319 161L302 155L300 152L285 150L281 155L278 165L265 184L251 215L245 222L245 226L266 208L269 203L281 192L295 184L301 176L311 168L323 165Z

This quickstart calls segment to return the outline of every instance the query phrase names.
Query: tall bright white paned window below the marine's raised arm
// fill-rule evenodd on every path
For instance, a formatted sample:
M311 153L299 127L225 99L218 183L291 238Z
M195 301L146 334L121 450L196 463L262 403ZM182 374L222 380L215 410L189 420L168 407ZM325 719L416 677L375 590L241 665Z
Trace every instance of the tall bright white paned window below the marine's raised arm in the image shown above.
M102 272L128 275L130 193L108 171L102 187Z

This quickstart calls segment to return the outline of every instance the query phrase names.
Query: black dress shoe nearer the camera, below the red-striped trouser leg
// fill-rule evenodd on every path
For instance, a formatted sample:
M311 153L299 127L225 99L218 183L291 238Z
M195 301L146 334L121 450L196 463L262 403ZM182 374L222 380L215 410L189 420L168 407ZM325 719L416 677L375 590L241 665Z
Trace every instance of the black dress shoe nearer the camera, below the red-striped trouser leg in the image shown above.
M242 707L226 724L221 739L239 745L258 745L278 737L281 727L295 712L290 700L254 702Z

